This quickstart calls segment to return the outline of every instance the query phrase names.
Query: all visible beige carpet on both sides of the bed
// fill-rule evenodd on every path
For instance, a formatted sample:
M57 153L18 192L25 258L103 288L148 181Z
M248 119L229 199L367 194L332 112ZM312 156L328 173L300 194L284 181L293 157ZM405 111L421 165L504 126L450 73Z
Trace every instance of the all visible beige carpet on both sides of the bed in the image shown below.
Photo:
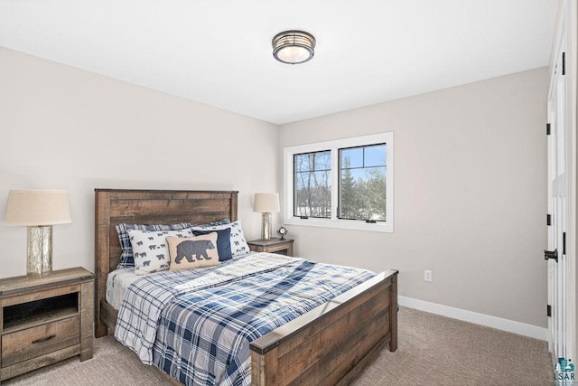
M382 352L356 386L552 385L547 344L403 307L395 353ZM95 340L94 358L78 357L3 385L169 385L112 336Z

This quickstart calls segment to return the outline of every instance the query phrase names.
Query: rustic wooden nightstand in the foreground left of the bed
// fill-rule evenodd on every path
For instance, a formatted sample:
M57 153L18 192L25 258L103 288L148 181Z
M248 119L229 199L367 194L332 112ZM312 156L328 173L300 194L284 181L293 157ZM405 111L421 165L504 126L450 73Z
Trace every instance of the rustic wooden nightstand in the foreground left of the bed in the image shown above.
M84 268L0 279L0 381L74 355L92 358L94 276Z

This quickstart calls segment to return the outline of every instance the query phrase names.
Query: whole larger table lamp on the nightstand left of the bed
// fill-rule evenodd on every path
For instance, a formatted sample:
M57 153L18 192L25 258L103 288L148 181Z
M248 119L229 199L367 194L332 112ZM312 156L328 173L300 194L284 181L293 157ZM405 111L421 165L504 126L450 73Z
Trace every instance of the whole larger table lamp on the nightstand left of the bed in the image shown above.
M26 274L42 278L52 271L52 225L70 220L66 191L11 190L6 206L6 225L28 227Z

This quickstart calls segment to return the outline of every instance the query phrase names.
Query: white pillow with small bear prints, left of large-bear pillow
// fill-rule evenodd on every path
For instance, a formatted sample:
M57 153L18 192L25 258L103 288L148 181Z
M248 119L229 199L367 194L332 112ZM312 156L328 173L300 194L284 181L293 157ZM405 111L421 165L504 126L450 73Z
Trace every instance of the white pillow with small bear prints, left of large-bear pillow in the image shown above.
M171 257L167 246L167 236L177 239L192 236L190 228L181 231L139 231L128 230L133 245L135 275L146 275L169 269Z

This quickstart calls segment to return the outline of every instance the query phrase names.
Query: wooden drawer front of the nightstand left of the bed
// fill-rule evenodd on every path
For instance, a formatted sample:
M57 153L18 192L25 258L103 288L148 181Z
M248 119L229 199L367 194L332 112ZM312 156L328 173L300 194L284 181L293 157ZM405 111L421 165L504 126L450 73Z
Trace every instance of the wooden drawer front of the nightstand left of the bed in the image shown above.
M79 315L2 336L2 366L80 343Z

